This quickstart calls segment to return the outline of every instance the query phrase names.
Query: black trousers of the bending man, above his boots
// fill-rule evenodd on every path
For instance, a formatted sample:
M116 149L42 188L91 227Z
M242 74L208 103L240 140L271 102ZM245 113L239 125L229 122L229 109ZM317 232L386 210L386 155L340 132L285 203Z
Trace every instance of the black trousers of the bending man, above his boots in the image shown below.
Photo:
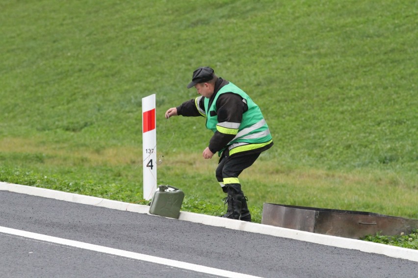
M238 178L241 172L250 167L260 156L259 153L250 153L250 154L236 154L233 156L229 155L229 150L226 149L221 158L219 159L218 167L216 168L216 179L219 183L223 183L226 178ZM222 187L224 192L228 192L227 188L234 189L235 193L240 193L241 184L225 184L225 187Z

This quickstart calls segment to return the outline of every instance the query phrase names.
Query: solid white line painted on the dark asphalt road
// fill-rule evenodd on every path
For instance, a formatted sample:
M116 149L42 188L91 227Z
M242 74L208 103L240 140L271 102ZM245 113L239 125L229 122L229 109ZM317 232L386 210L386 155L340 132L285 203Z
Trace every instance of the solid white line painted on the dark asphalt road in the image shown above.
M196 271L196 272L201 272L201 273L206 273L206 274L211 274L211 275L216 275L216 276L221 276L221 277L227 277L227 278L261 278L261 277L258 277L258 276L252 276L252 275L247 275L247 274L242 274L242 273L237 273L237 272L232 272L232 271L227 271L227 270L222 270L222 269L217 269L217 268L212 268L212 267L207 267L207 266L202 266L202 265L198 265L198 264L192 264L192 263L187 263L187 262L182 262L182 261L160 258L160 257L157 257L157 256L134 253L134 252L130 252L130 251L124 251L124 250L120 250L120 249L115 249L115 248L110 248L110 247L105 247L105 246L100 246L100 245L95 245L95 244L90 244L90 243L65 239L65 238L59 238L59 237L49 236L49 235L40 234L40 233L26 232L26 231L22 231L22 230L7 228L7 227L1 227L0 226L0 232L7 233L7 234L13 234L13 235L17 235L17 236L22 236L22 237L26 237L26 238L31 238L31 239L36 239L36 240L42 240L42 241L46 241L46 242L52 242L52 243L56 243L56 244L60 244L60 245L76 247L76 248L80 248L80 249L86 249L86 250L90 250L90 251L101 252L101 253L105 253L105 254L109 254L109 255L116 255L116 256L131 258L131 259L137 259L137 260L141 260L141 261L147 261L147 262L167 265L167 266L171 266L171 267L176 267L176 268L181 268L181 269L186 269L186 270L191 270L191 271Z

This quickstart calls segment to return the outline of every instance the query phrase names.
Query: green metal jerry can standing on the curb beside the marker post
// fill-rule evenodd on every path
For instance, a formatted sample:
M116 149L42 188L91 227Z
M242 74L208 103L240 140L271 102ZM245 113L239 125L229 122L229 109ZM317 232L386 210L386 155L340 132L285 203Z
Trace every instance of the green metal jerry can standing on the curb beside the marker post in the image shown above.
M168 190L168 188L174 190ZM151 201L150 213L178 219L183 204L184 192L171 185L159 185Z

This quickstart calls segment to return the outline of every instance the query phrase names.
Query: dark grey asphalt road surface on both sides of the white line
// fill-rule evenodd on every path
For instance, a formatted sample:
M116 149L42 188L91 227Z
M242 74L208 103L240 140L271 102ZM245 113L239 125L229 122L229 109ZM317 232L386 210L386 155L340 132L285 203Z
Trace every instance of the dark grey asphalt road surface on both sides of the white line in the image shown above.
M0 190L0 226L263 278L417 278L418 263ZM223 277L0 232L2 278Z

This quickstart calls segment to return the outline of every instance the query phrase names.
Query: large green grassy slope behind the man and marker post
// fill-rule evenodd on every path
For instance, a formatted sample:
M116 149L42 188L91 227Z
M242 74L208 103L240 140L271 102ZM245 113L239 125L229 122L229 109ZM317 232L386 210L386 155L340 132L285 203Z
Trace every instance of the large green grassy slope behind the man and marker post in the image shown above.
M418 219L416 1L0 3L0 180L145 204L141 98L157 94L158 184L222 214L203 118L164 119L208 65L275 145L240 176L264 202Z

